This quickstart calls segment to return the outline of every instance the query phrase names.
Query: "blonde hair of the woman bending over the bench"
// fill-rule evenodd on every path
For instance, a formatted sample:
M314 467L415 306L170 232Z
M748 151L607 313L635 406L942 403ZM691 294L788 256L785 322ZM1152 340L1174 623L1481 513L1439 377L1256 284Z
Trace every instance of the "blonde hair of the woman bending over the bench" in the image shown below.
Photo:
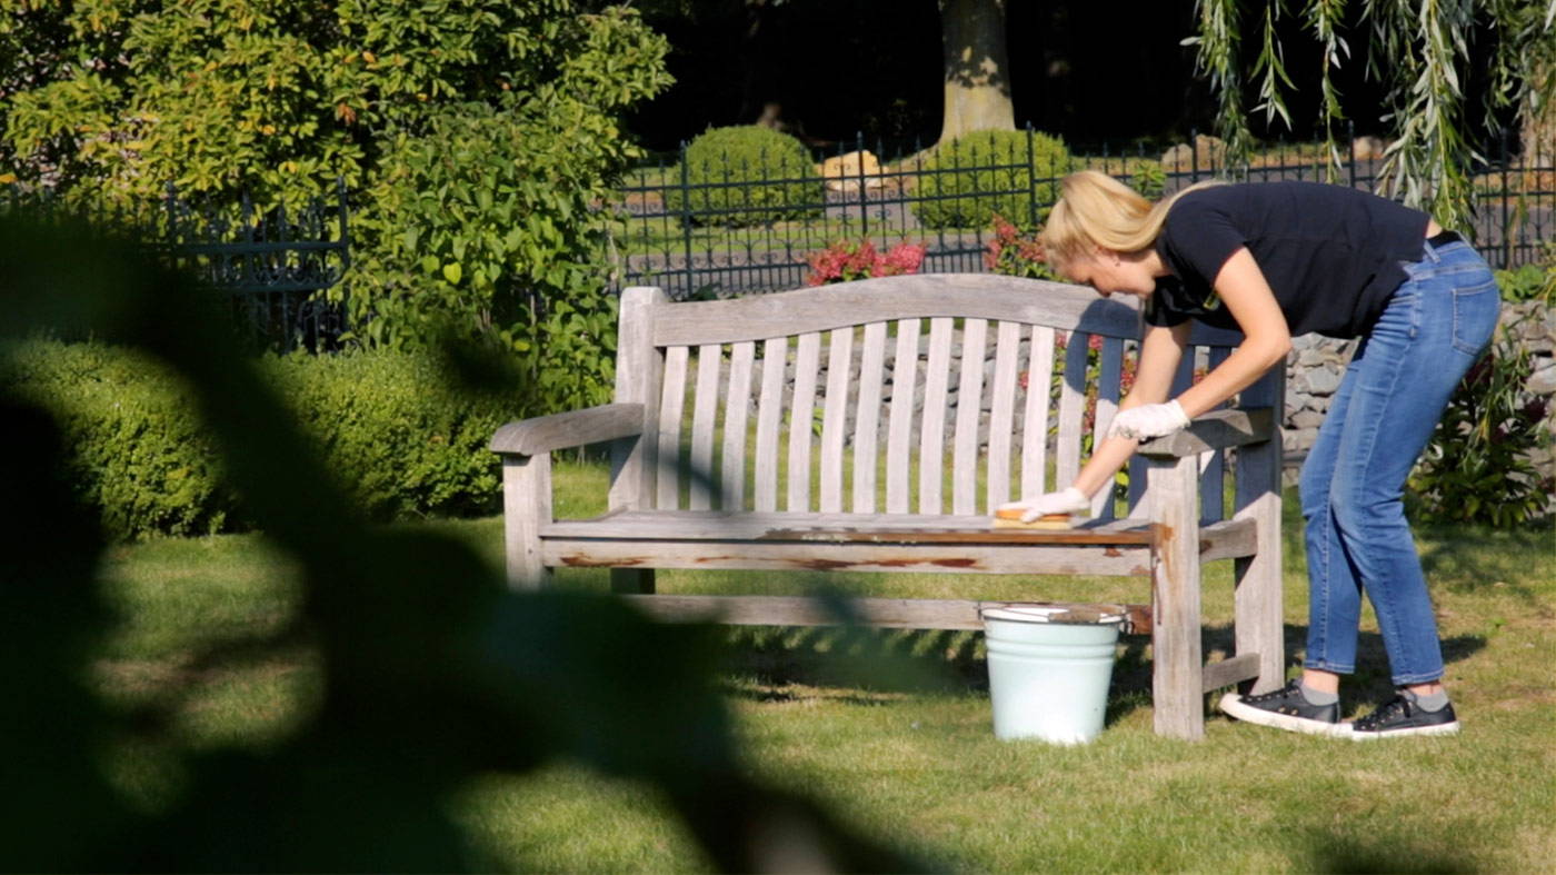
M1071 173L1060 182L1060 202L1053 204L1038 241L1047 262L1060 272L1075 258L1089 258L1097 246L1114 252L1139 252L1156 243L1167 221L1167 210L1178 198L1223 184L1220 179L1198 182L1151 204L1106 173Z

